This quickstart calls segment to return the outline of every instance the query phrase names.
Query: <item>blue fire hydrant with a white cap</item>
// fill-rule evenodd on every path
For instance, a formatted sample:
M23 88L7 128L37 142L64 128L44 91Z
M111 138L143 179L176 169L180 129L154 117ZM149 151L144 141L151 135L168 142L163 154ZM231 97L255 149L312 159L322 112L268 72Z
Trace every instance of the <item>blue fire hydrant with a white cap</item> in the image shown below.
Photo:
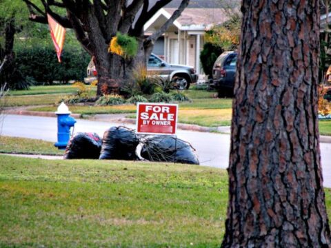
M70 139L70 128L74 127L76 120L69 116L71 112L63 102L59 105L55 114L57 114L57 143L54 146L59 149L66 149Z

